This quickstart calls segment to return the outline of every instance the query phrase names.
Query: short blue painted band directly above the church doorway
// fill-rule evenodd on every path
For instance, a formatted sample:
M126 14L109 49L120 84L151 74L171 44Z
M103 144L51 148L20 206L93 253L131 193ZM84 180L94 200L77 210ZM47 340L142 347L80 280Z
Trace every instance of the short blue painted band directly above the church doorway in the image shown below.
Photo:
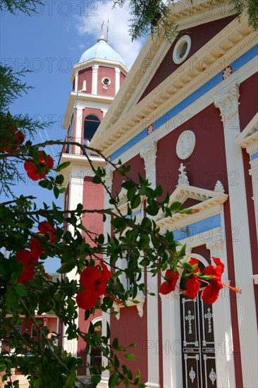
M210 241L213 237L212 229L219 228L221 226L221 215L216 214L215 216L202 219L202 221L194 222L193 224L184 226L183 228L176 229L173 232L174 239L176 241L183 240L184 238L191 238L199 234L200 240L204 243ZM202 234L209 231L209 236L202 238Z

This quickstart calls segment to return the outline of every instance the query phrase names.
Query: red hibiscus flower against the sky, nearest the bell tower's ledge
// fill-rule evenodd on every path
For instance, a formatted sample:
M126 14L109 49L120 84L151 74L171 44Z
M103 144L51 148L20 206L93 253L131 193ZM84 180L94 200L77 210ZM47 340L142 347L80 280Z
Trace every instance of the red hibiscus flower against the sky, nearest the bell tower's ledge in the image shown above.
M39 161L37 163L34 162L33 159L27 159L24 162L27 176L32 179L32 181L39 181L39 179L45 178L53 166L54 160L50 155L45 154L43 151L39 151Z

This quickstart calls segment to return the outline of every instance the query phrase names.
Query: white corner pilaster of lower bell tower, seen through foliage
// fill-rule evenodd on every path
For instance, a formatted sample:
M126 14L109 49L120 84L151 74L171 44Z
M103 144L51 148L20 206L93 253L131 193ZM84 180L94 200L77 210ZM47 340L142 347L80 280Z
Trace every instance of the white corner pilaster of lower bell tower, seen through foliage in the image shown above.
M83 195L83 176L80 174L76 174L77 171L71 171L70 176L70 190L69 190L69 202L68 209L75 210L78 203L82 203L82 195ZM68 230L71 234L74 234L74 227L68 225ZM69 280L79 280L78 274L76 274L76 268L74 268L71 272L66 274ZM79 322L79 309L78 309L78 317L75 319L75 325L78 326ZM63 327L63 335L66 336L67 327ZM63 349L71 353L73 357L77 357L78 353L78 340L77 339L63 339Z

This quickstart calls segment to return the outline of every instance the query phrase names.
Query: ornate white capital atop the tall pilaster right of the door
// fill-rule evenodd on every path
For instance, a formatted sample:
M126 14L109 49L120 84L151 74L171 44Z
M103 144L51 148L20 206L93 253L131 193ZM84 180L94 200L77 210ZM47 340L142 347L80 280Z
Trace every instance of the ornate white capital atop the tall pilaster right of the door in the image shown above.
M221 121L227 121L238 114L239 96L239 85L234 83L226 92L214 98L215 107L221 111Z

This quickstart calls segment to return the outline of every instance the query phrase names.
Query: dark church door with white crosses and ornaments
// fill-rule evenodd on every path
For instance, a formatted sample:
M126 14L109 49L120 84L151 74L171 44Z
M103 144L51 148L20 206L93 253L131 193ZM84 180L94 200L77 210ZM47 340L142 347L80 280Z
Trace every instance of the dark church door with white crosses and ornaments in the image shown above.
M184 388L216 388L212 305L180 296Z

